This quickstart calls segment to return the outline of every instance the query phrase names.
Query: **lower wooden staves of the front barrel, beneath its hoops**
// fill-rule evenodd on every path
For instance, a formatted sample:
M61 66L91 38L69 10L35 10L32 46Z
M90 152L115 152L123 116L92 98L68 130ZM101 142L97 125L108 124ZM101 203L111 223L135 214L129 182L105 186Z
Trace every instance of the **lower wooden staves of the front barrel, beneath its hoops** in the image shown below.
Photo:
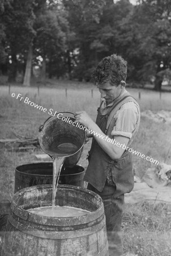
M62 240L54 240L33 237L16 230L11 230L10 251L8 245L4 246L6 256L33 256L33 255L48 255L48 256L95 256L95 255L108 255L108 244L106 242L106 236L103 235L103 231L94 233L90 236L82 236L78 238L68 238ZM100 238L100 242L98 239ZM15 241L15 243L12 241ZM21 242L22 241L22 245ZM105 245L104 245L105 243Z

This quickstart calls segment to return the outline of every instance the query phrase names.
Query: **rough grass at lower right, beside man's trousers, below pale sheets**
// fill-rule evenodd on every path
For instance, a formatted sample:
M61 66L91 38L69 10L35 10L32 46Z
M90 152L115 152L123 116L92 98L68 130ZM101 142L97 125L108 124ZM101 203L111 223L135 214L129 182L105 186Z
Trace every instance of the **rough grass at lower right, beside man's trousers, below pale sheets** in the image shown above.
M170 256L171 216L167 204L144 202L126 205L123 216L123 246L138 256Z

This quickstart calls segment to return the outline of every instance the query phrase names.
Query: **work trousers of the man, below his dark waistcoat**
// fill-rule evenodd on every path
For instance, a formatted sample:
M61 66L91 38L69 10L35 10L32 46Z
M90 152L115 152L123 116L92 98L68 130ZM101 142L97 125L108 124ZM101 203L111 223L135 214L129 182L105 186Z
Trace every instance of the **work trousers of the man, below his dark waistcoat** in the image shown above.
M99 192L88 183L87 189L101 196L104 203L106 229L109 242L109 255L122 256L123 243L121 234L121 223L124 210L124 194L115 197L116 185L111 180L106 180L105 187Z

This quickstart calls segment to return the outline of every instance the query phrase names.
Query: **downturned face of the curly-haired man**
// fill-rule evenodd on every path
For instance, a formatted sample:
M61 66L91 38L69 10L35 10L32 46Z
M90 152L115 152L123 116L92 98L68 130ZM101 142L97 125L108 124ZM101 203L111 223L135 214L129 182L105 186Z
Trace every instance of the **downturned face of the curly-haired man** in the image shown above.
M107 104L114 101L121 93L121 84L111 85L110 82L105 82L104 84L98 84L97 87L101 93L101 98L105 98Z

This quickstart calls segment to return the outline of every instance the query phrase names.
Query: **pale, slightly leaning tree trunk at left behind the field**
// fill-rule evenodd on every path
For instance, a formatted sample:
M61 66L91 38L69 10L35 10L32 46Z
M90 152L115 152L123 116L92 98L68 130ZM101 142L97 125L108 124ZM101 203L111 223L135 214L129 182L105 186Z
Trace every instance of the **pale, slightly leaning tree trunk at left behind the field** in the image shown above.
M24 86L30 86L32 58L33 58L33 46L31 43L29 46L29 49L28 49L27 64L26 64L26 68L25 68L25 75L24 75L24 82L23 82Z

